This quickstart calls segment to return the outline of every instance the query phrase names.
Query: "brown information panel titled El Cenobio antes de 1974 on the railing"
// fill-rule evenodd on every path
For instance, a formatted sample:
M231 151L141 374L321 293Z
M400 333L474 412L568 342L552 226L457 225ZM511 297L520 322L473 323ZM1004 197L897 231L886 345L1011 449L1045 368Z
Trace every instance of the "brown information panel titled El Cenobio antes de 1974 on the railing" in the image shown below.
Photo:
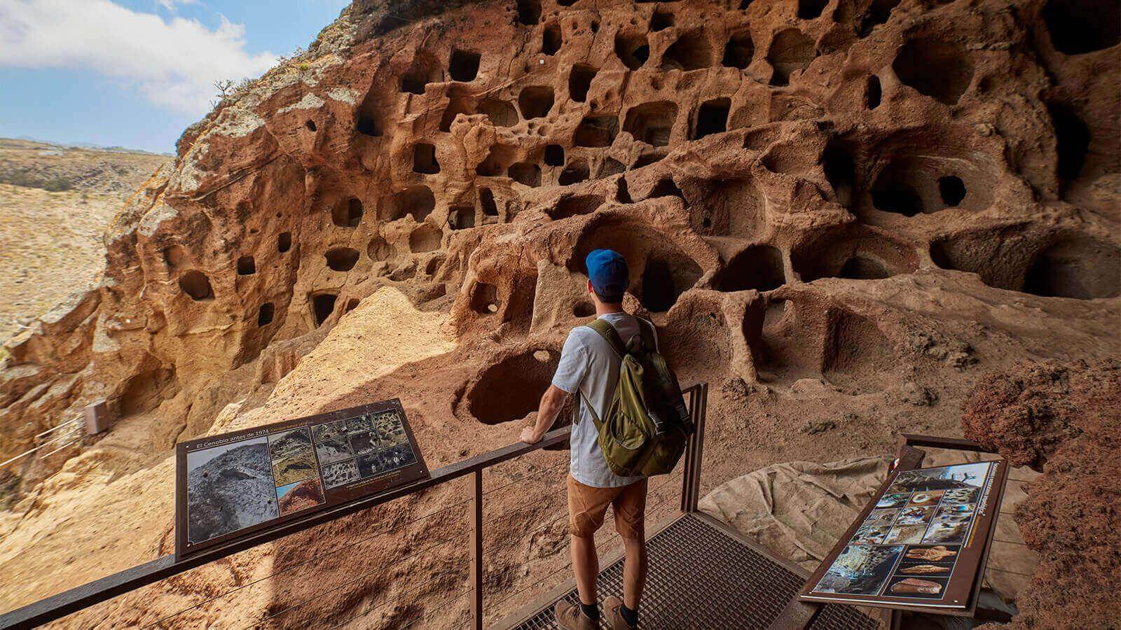
M428 478L400 400L183 442L175 554Z

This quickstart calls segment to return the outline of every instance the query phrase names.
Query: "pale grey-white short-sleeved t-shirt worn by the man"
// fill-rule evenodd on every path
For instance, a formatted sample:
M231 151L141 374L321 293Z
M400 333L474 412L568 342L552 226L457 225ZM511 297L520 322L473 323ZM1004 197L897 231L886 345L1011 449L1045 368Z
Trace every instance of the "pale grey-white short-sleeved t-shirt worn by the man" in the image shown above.
M606 319L615 327L623 343L639 334L639 326L647 326L651 332L654 328L649 323L640 323L637 317L627 313L608 313L600 318ZM655 342L657 343L657 333ZM619 476L611 472L600 448L600 435L595 430L595 421L592 420L592 414L584 402L587 400L594 405L600 418L604 416L611 396L615 391L621 363L622 358L615 354L600 333L587 326L578 326L568 333L564 350L560 351L560 363L557 365L556 374L553 376L553 385L568 393L575 393L580 389L583 395L576 397L580 421L573 424L568 443L572 448L569 464L572 476L584 485L619 488L642 479Z

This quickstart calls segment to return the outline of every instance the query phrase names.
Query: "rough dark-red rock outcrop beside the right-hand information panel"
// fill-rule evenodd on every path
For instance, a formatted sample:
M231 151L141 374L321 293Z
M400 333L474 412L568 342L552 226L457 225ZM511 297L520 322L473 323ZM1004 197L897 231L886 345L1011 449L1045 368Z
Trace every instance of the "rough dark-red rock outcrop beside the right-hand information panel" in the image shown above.
M988 374L966 436L1044 475L1016 510L1038 552L1019 627L1109 628L1121 619L1121 362L1025 362Z

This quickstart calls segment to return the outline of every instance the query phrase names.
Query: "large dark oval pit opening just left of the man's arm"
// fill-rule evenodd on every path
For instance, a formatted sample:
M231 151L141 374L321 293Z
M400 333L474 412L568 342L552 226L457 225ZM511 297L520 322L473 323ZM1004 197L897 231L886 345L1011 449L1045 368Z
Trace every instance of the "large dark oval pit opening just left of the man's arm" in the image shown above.
M503 359L488 368L467 392L467 410L487 425L526 417L537 410L559 360L548 350L527 350Z

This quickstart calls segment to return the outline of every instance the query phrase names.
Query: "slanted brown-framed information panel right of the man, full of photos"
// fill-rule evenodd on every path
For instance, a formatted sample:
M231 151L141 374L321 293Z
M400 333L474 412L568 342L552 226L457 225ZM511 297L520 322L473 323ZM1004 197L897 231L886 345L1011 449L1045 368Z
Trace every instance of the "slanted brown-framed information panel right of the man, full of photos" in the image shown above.
M896 471L800 599L967 608L1007 467L998 461Z

